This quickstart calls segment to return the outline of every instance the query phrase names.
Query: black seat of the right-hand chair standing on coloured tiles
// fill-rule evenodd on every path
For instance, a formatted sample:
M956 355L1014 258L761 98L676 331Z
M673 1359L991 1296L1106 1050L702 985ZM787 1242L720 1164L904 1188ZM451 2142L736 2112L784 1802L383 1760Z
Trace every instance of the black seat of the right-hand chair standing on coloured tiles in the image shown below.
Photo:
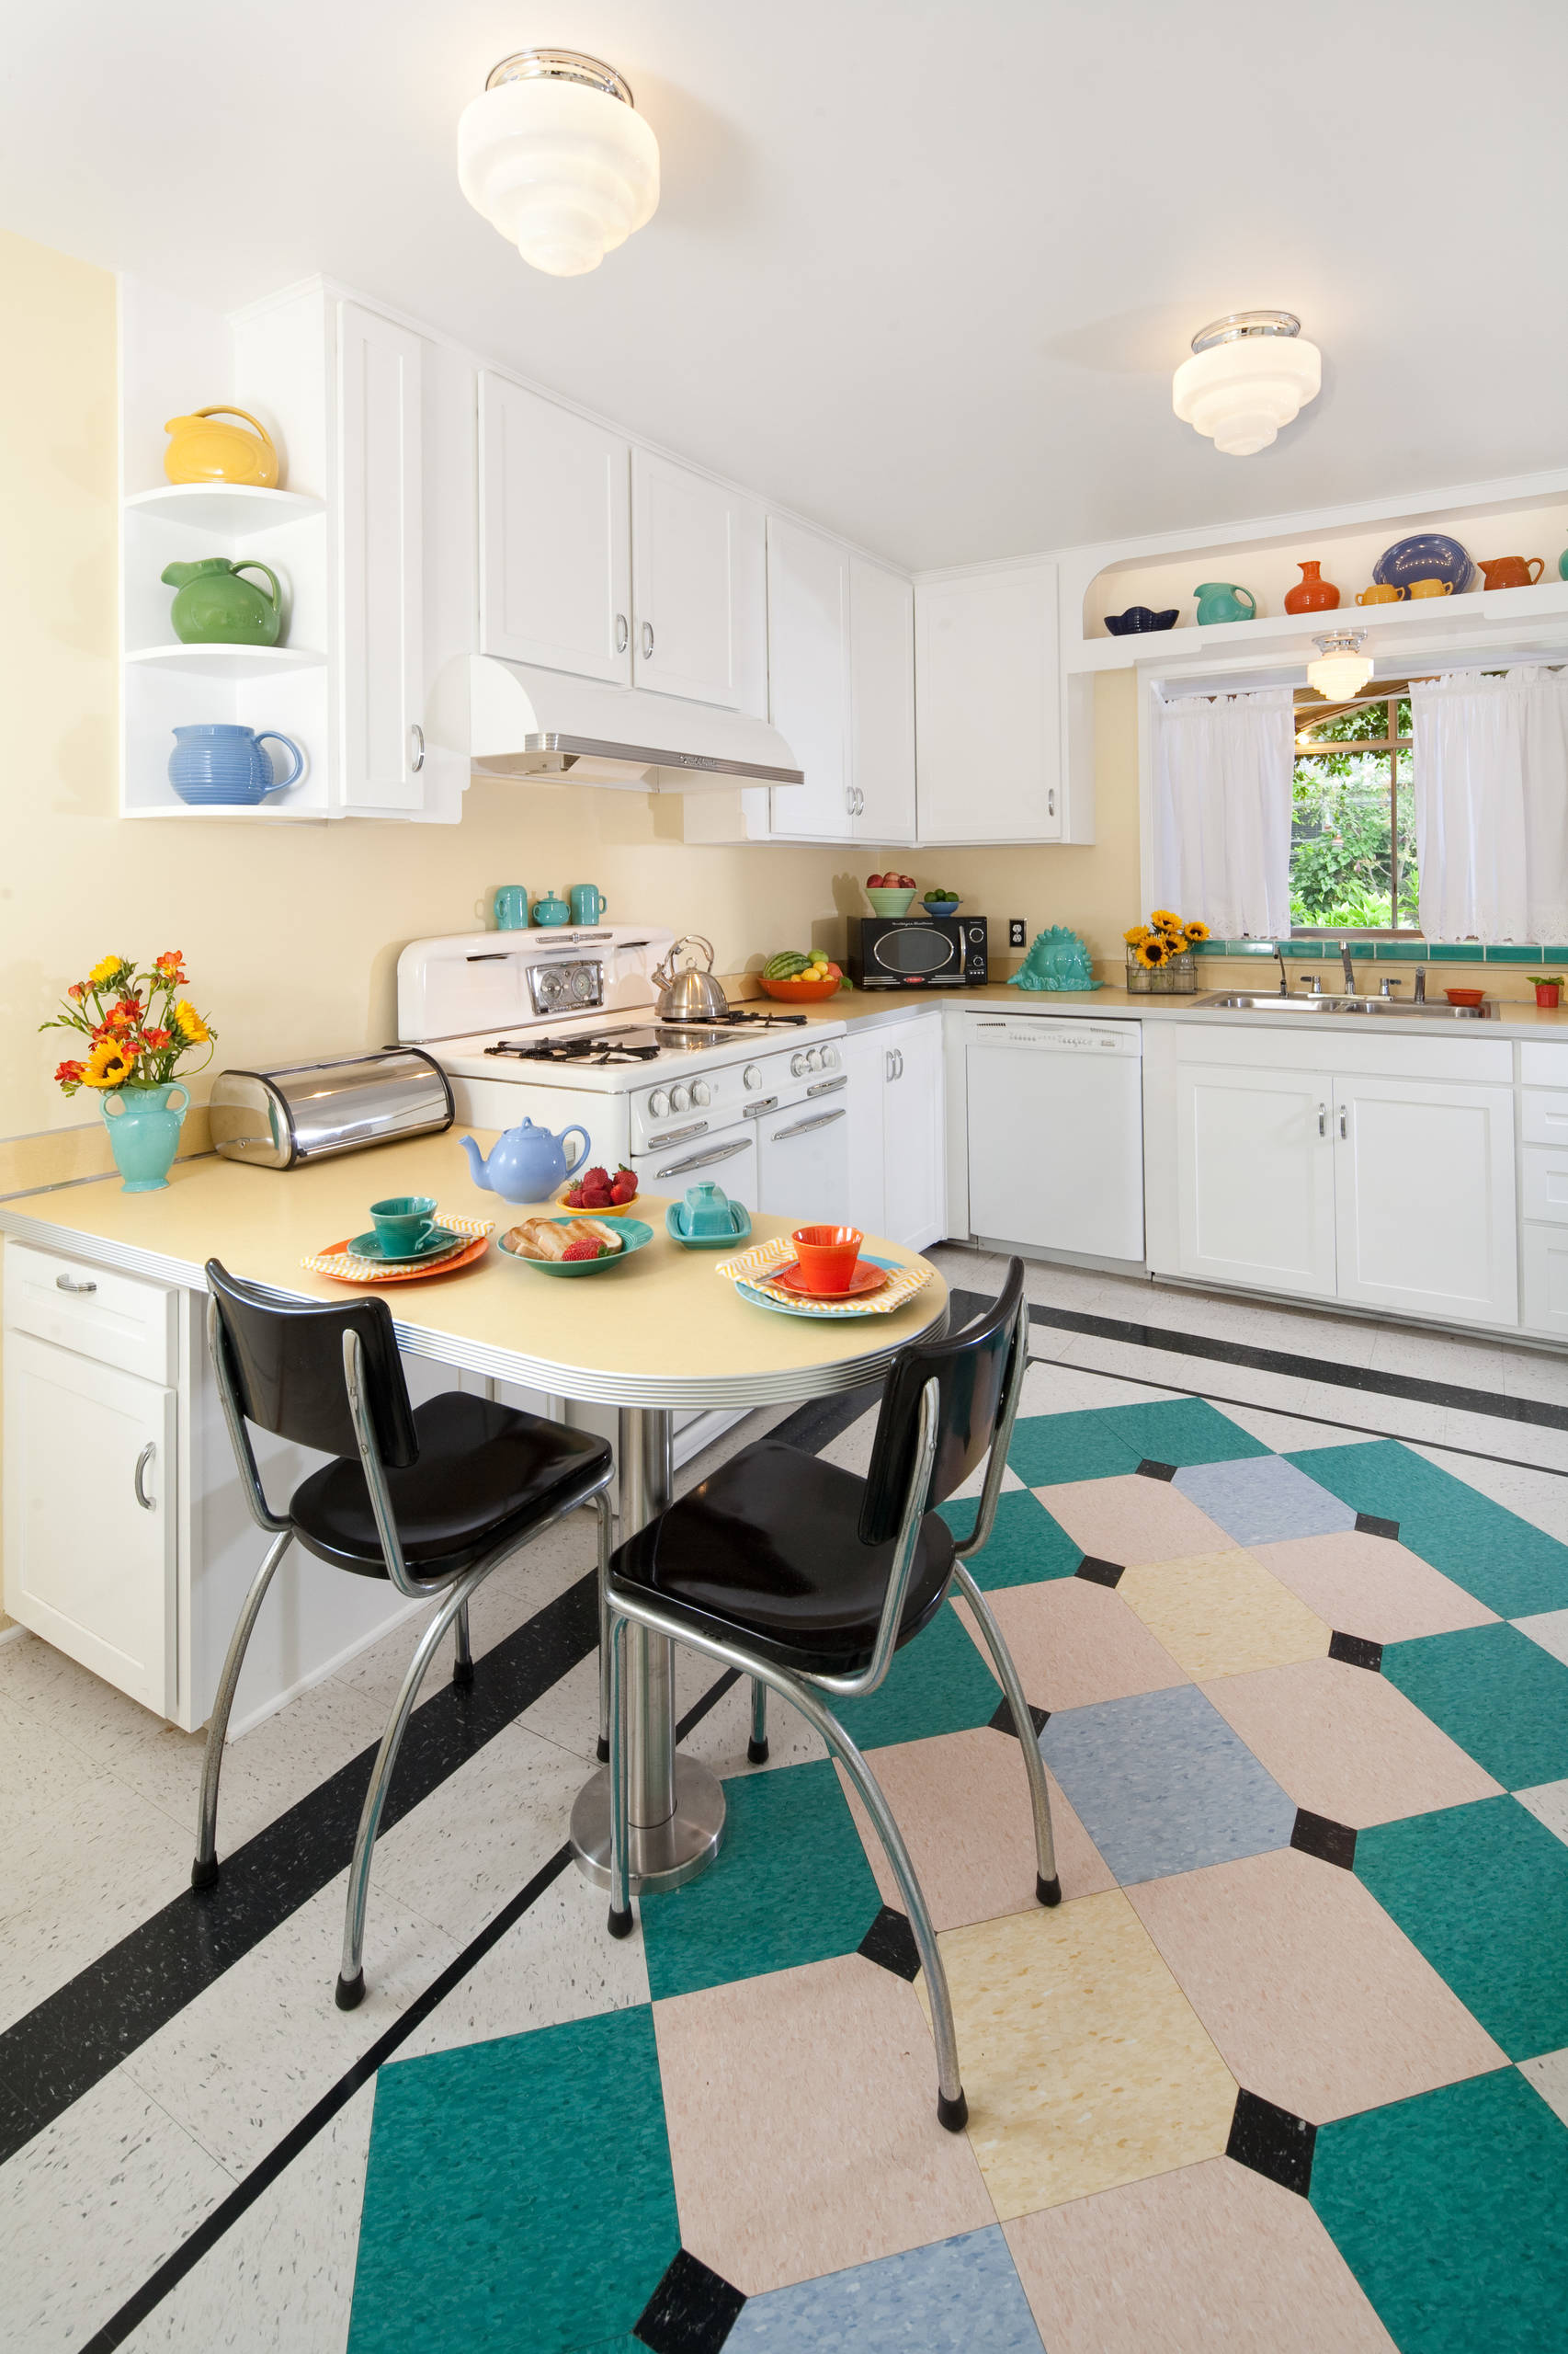
M892 1537L862 1542L864 1499L852 1471L760 1438L629 1537L610 1575L697 1634L744 1634L775 1667L855 1674L871 1660L895 1554ZM928 1511L899 1645L937 1615L951 1568L954 1532Z

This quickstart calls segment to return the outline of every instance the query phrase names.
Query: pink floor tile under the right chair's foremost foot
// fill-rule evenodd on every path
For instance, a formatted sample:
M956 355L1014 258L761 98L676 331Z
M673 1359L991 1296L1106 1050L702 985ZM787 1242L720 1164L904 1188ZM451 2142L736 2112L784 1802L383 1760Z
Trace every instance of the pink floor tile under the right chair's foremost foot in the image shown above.
M749 2298L996 2220L913 1987L859 1954L655 2003L680 2243Z

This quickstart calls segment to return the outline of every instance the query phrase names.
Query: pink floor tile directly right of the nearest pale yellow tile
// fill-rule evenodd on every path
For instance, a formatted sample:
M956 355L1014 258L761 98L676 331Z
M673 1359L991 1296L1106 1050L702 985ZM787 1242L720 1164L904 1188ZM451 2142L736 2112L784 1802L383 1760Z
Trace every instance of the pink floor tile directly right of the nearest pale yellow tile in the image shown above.
M1504 2053L1351 1871L1276 1848L1128 1897L1248 2093L1323 2126Z

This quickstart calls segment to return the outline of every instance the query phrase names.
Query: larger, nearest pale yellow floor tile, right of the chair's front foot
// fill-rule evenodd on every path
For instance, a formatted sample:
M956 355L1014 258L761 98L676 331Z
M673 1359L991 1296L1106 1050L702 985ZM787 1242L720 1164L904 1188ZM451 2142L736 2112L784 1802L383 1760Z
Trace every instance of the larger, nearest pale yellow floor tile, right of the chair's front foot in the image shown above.
M1224 2149L1236 2079L1121 1888L939 1944L1003 2222Z

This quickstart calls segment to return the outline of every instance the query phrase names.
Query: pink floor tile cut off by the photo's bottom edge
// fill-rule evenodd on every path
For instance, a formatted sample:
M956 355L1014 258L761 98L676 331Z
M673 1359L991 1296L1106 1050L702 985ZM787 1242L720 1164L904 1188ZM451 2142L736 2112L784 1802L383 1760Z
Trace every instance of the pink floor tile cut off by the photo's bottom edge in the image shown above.
M1205 2159L1003 2225L1050 2354L1391 2354L1295 2192Z

